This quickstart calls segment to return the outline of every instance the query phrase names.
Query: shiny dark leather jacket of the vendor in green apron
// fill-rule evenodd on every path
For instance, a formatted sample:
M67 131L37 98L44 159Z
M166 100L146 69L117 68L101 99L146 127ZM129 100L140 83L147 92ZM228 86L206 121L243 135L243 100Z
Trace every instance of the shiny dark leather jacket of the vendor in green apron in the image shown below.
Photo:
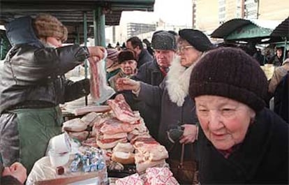
M7 30L8 38L14 30L17 29ZM87 48L79 45L44 47L31 33L22 31L18 40L10 38L15 43L0 63L0 112L36 102L53 107L89 94L88 79L72 82L64 77L89 57Z

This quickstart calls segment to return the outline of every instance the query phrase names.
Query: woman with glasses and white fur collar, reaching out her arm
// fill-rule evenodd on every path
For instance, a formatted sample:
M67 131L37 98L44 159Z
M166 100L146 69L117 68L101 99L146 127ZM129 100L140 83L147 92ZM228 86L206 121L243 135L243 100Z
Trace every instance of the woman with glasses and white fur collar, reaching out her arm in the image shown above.
M195 105L188 96L189 77L202 53L213 45L205 34L193 29L179 31L178 45L179 57L172 61L168 75L160 86L130 79L120 79L117 85L119 89L133 90L137 98L148 105L161 107L158 142L169 151L168 163L177 181L193 184L196 165L192 142L197 133L197 118L191 116L195 114Z

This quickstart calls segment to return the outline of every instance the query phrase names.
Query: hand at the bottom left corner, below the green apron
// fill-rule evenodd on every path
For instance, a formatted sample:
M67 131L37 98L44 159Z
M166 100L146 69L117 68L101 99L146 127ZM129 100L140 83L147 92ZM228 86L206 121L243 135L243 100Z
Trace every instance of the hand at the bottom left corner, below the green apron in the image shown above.
M2 176L13 176L22 184L25 182L27 178L27 170L21 163L13 163L10 167L4 168L2 172Z

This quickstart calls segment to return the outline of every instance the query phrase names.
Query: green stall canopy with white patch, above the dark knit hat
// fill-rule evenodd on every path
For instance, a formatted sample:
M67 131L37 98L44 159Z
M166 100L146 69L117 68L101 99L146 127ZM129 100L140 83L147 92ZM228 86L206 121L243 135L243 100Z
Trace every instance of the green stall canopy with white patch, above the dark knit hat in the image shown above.
M280 22L266 20L233 19L225 22L211 34L212 38L224 40L252 41L262 43L262 39L269 38L270 34ZM275 40L276 41L276 40Z

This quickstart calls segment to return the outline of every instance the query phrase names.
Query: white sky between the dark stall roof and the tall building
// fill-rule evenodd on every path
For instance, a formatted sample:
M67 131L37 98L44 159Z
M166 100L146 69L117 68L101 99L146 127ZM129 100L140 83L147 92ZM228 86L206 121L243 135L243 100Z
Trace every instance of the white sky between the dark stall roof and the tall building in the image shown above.
M169 24L192 24L191 0L155 0L154 12L126 11L121 15L121 22L156 22L161 18Z

